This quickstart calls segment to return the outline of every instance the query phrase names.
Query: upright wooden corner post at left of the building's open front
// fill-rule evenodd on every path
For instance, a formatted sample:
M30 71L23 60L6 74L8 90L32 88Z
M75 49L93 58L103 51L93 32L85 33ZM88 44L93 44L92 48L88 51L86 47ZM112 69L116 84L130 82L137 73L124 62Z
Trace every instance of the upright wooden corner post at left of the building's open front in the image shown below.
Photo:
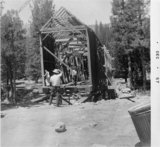
M45 86L45 83L44 83L43 46L42 46L42 36L41 36L41 33L40 33L40 35L39 35L39 41L40 41L40 54L41 54L41 74L42 74L42 83L43 83L43 86Z

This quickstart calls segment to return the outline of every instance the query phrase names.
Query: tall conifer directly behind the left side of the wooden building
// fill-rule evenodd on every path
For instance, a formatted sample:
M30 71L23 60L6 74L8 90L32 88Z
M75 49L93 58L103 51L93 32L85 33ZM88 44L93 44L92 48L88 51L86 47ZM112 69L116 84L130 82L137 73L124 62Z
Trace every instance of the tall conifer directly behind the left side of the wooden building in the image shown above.
M26 74L36 82L41 77L39 33L42 26L52 17L52 0L35 0L32 8L30 36L27 39Z

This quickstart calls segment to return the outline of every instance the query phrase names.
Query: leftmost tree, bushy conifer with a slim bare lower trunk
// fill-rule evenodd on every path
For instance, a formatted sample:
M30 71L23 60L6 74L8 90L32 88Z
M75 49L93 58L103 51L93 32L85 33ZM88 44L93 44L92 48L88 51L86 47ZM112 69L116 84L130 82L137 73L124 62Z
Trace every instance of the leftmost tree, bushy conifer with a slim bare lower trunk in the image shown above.
M7 11L2 16L2 79L11 88L13 103L16 98L16 78L24 74L24 35L25 30L18 13Z

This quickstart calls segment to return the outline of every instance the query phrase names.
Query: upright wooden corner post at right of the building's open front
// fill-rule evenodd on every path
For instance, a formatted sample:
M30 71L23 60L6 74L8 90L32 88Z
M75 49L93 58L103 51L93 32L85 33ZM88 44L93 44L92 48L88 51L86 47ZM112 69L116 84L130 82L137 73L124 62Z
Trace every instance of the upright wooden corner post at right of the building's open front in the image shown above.
M86 29L86 36L87 36L87 48L88 48L88 69L89 69L89 81L92 83L92 69L91 69L91 52L90 52L90 44L89 44L89 35L88 30Z

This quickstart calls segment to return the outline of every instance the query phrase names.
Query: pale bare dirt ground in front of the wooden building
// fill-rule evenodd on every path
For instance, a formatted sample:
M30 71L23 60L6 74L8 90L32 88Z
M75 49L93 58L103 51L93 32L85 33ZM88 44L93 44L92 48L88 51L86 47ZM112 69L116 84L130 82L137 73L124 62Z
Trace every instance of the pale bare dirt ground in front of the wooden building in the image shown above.
M132 100L117 98L59 108L42 102L4 110L2 147L134 147L139 138L128 109L150 97L137 95ZM67 130L55 132L57 122L64 122Z

